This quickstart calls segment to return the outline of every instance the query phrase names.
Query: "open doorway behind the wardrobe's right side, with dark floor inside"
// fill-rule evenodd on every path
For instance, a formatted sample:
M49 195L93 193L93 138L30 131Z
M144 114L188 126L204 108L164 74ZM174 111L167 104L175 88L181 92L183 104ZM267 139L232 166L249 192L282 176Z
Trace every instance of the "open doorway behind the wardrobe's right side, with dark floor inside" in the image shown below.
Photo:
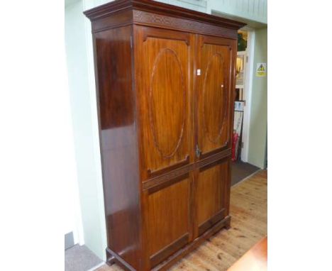
M232 185L260 170L259 167L248 163L254 35L253 31L238 31L232 146Z

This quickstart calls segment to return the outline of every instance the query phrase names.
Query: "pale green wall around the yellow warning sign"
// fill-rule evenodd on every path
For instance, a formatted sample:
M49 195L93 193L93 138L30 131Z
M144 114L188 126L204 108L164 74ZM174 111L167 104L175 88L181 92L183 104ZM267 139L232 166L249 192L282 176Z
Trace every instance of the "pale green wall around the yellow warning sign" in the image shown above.
M267 28L255 31L248 162L264 168L267 151L267 76L256 77L257 63L267 63ZM268 63L267 63L268 70Z

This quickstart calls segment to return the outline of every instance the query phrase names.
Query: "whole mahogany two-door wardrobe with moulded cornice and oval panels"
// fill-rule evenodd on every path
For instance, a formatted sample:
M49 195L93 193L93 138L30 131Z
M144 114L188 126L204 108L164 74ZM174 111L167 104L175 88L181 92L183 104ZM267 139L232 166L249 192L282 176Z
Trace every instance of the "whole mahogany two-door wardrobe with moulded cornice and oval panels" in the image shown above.
M167 270L230 226L237 31L148 0L92 21L107 262Z

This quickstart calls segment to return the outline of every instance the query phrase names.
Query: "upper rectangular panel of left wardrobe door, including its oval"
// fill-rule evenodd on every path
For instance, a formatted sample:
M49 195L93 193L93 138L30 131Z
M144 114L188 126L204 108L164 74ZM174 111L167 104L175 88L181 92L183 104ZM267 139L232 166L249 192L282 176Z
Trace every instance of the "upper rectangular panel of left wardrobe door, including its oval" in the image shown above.
M189 163L192 146L192 35L139 27L136 86L145 178ZM143 177L144 178L144 177Z

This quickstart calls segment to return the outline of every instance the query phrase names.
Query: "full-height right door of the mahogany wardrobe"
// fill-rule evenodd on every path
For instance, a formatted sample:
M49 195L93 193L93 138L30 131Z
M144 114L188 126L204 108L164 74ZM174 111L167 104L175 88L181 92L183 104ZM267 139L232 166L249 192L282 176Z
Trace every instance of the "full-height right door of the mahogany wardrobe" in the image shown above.
M194 182L194 236L228 215L229 157L233 110L233 60L236 40L197 35L197 160ZM221 155L218 155L220 153Z

